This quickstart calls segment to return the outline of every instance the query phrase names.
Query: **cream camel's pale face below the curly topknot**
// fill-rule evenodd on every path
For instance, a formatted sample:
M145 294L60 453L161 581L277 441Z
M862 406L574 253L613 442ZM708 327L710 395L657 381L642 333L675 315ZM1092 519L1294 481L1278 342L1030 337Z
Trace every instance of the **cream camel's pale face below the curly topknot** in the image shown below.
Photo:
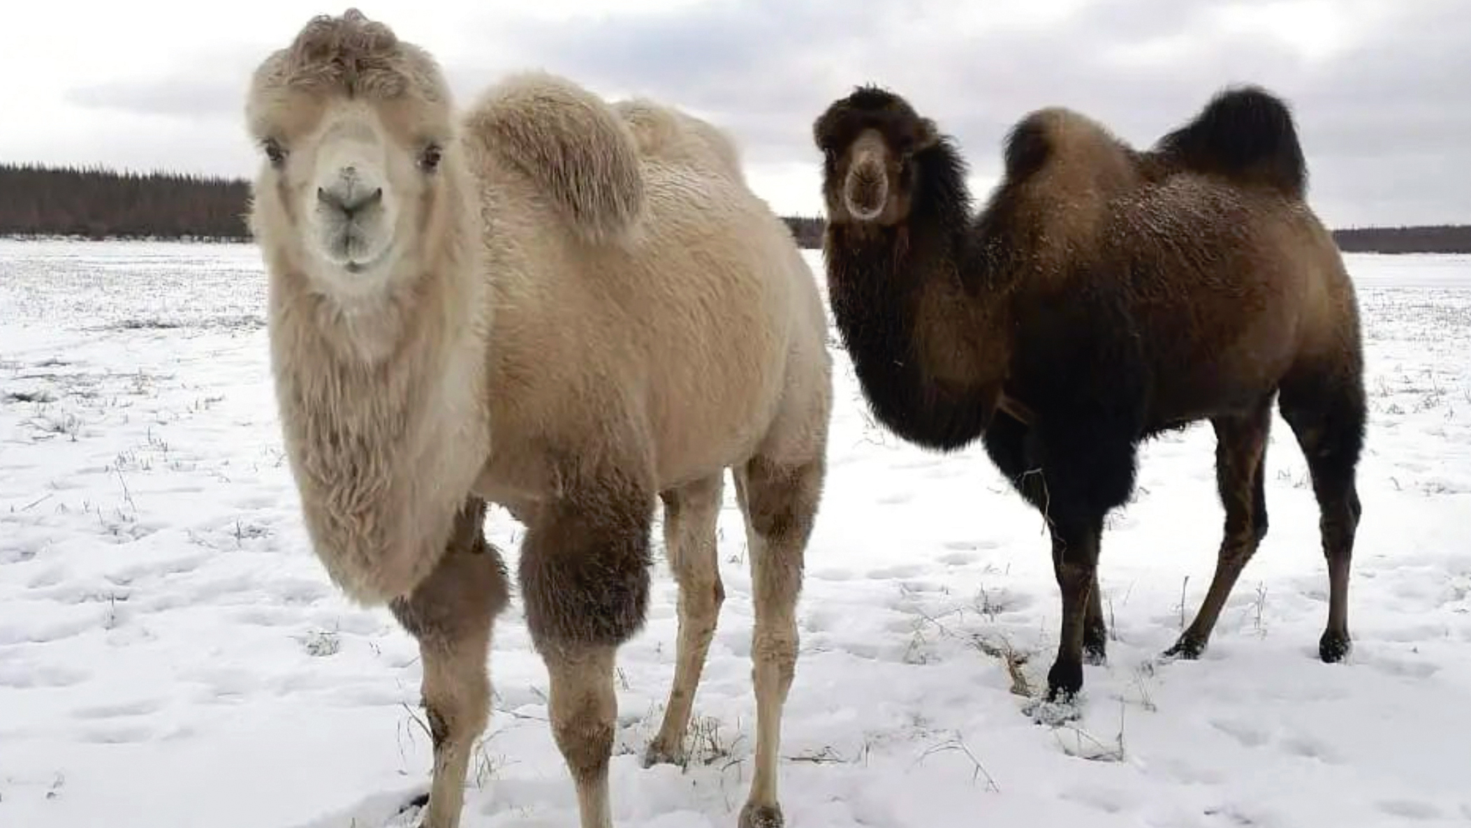
M437 140L406 131L391 107L332 99L312 122L263 141L257 193L294 218L300 254L328 290L374 293L413 243L432 204ZM274 187L271 187L274 181ZM257 196L260 197L260 196Z

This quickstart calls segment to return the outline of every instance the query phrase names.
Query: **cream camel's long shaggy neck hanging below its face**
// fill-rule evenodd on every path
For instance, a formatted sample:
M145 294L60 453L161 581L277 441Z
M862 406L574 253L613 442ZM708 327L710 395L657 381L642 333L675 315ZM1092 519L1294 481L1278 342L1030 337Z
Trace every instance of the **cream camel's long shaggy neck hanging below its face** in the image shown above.
M365 603L432 569L488 452L488 325L456 249L366 300L272 274L277 394L303 515L334 581Z

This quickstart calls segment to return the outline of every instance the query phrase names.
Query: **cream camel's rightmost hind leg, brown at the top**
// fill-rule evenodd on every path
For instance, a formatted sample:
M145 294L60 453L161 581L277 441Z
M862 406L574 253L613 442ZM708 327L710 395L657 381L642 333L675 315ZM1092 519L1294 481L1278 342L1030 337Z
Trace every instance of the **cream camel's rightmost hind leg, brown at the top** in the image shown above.
M797 596L803 556L822 490L824 460L799 465L756 457L736 472L746 512L756 627L752 677L756 685L756 768L740 828L780 828L777 756L781 710L797 666Z

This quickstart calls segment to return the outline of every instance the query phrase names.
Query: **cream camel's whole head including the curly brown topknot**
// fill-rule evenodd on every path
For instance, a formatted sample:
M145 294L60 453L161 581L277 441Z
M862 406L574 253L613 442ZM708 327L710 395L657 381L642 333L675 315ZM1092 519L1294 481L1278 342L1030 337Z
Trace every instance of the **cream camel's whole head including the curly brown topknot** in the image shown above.
M252 224L334 293L378 290L443 221L452 104L424 50L356 9L313 18L256 69Z

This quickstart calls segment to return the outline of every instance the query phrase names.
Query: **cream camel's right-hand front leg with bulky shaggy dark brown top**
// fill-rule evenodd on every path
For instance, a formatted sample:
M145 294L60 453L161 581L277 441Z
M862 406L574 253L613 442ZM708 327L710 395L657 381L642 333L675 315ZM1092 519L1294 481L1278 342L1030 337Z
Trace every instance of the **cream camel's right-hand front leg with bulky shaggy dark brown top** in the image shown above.
M577 785L583 828L612 828L608 763L618 699L613 659L649 604L652 487L625 472L571 477L521 547L531 640L550 678L552 735Z

